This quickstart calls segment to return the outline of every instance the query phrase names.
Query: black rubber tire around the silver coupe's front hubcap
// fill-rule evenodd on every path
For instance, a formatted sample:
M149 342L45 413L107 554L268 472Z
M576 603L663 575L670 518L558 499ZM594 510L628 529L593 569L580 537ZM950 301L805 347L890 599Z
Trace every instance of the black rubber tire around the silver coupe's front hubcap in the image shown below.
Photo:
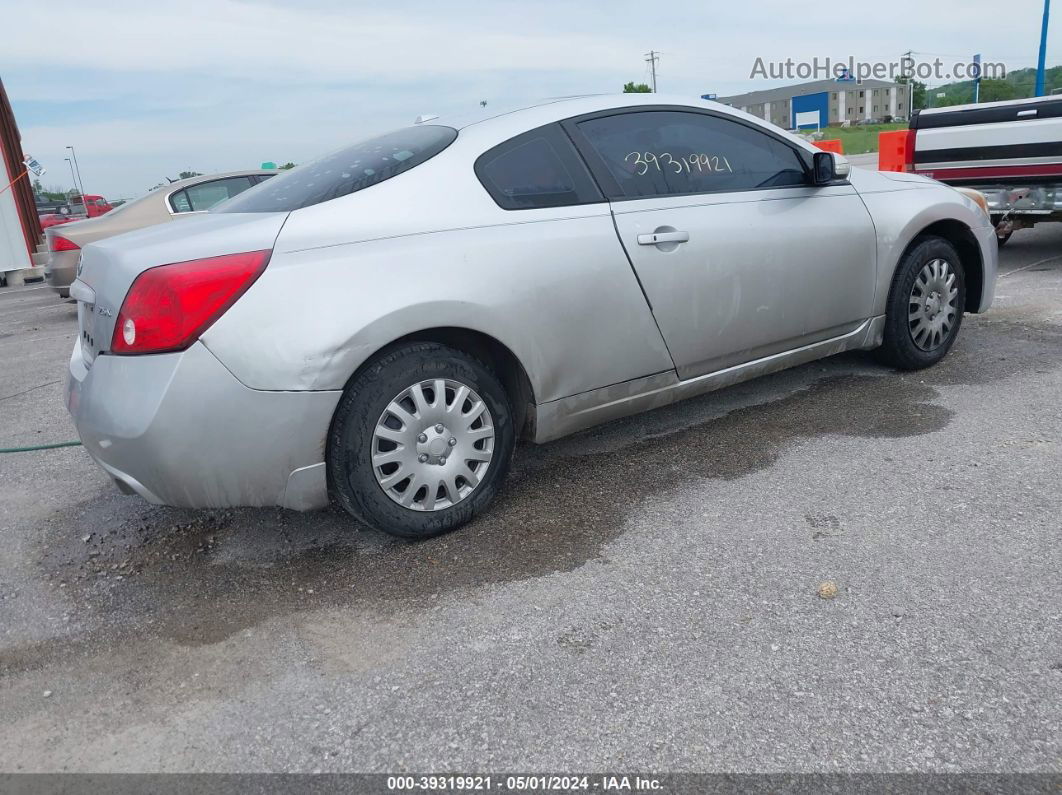
M955 318L939 344L926 350L915 343L909 317L912 291L922 270L935 260L944 260L956 276ZM919 238L904 255L889 290L886 308L885 339L877 350L878 358L898 369L923 369L931 367L947 356L962 326L962 314L966 305L966 275L955 246L935 236Z

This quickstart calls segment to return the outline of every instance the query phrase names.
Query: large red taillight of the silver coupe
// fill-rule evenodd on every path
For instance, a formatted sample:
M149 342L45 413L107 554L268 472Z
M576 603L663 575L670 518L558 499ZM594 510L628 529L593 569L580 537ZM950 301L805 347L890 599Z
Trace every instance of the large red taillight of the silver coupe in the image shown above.
M270 254L229 254L144 271L122 301L112 352L184 350L255 283Z

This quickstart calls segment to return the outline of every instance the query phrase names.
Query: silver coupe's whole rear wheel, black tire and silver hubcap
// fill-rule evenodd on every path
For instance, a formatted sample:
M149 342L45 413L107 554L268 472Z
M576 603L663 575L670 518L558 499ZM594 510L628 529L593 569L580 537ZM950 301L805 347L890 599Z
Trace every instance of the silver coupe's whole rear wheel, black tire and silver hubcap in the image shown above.
M370 363L344 392L328 439L329 487L366 524L429 538L490 504L514 443L509 399L486 365L412 343Z

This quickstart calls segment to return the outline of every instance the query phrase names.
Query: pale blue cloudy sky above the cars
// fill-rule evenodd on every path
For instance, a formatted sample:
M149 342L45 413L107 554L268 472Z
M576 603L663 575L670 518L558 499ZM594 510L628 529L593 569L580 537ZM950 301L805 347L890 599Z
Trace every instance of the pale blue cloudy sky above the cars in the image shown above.
M690 97L801 82L750 79L757 57L980 52L1030 67L1042 13L1042 0L847 0L837 14L791 0L0 0L0 19L20 20L0 80L46 188L72 185L73 145L87 193L129 198L185 170L305 162L421 114L618 92L649 81L650 50L658 89ZM1062 20L1048 48L1062 63Z

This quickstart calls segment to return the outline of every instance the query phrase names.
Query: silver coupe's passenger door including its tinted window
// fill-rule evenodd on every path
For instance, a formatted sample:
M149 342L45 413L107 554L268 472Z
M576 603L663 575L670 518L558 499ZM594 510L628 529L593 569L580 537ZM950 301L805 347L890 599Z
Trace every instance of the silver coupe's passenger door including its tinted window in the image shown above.
M871 314L875 231L846 184L813 187L809 157L722 114L653 107L566 128L681 378L850 332Z

